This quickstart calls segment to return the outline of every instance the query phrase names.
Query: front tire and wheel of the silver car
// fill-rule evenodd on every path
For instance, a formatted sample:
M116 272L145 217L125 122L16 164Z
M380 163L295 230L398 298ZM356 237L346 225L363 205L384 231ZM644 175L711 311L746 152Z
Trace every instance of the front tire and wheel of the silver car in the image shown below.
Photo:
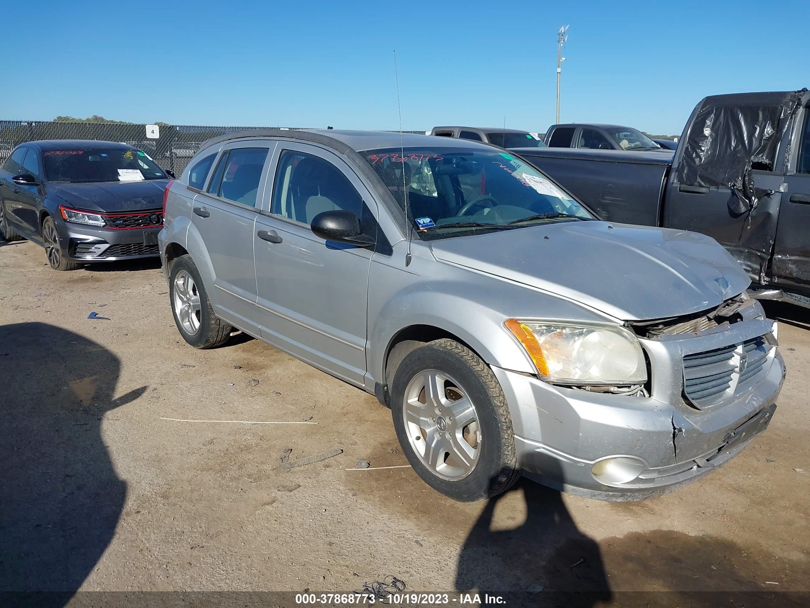
M454 340L408 353L391 412L408 462L428 486L461 502L508 490L520 477L509 406L489 366Z

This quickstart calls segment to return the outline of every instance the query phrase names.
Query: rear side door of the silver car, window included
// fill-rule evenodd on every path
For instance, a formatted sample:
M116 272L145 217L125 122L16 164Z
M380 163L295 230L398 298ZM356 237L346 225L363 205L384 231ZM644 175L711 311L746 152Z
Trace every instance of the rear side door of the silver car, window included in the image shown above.
M194 197L192 222L214 271L211 305L226 321L259 335L253 234L267 161L275 142L234 142L222 148L206 189Z

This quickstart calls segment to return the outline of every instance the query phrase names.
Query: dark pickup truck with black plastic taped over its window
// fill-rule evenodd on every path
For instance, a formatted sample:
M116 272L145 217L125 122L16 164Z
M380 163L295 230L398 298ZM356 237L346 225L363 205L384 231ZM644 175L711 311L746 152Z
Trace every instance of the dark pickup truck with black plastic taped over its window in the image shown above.
M604 220L708 234L758 298L810 306L808 118L807 89L718 95L693 110L676 152L514 152Z

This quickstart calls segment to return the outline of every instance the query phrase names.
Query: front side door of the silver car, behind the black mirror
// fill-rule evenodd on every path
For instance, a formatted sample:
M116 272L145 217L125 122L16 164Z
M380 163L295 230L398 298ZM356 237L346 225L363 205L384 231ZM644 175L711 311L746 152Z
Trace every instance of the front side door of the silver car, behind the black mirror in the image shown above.
M349 165L323 148L279 143L275 178L256 221L254 246L262 336L348 382L364 383L366 302L373 251L324 241L320 212L377 207Z

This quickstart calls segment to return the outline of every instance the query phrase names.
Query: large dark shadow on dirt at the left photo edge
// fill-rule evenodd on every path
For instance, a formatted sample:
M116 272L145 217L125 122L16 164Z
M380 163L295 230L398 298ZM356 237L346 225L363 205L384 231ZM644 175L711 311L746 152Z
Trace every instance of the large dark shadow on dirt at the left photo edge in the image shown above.
M109 546L126 482L101 424L121 362L45 323L0 326L0 603L64 606ZM42 593L48 592L48 593Z

